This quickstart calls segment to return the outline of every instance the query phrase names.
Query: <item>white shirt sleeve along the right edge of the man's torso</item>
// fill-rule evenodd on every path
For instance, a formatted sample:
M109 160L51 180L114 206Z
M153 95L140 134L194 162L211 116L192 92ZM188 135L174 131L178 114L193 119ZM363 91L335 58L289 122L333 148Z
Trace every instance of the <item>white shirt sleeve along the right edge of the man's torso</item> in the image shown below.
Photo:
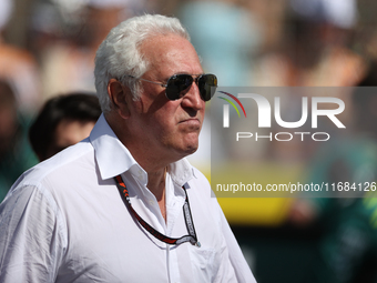
M234 269L237 282L238 283L256 283L254 275L241 251L237 240L235 239L222 210L221 210L221 221L222 221L223 234L224 234L225 242L226 242L227 250L228 250L230 261Z

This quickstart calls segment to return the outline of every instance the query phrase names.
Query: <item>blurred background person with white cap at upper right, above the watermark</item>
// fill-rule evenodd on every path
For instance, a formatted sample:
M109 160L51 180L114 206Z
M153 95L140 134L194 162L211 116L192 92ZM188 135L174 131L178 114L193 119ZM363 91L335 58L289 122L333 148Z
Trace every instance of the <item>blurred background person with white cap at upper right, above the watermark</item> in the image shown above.
M256 85L351 87L365 61L351 50L356 0L289 0L283 40L256 63Z

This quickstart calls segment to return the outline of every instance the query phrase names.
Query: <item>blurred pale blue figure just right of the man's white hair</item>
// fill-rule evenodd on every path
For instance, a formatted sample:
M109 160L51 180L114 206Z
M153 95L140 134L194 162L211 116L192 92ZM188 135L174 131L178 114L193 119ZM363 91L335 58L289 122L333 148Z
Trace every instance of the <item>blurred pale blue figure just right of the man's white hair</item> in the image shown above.
M216 70L222 87L253 85L252 62L261 43L261 28L242 1L186 1L180 19L192 34L203 68Z

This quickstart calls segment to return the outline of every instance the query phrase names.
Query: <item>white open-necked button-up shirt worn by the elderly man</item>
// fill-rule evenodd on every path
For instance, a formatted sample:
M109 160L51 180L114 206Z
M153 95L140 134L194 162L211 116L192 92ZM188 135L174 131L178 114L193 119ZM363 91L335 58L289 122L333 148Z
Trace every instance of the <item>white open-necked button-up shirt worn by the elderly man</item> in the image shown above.
M91 135L26 172L0 204L0 282L255 282L204 175L186 160L166 174L166 222L147 174L104 117ZM186 188L201 247L169 245L123 203L171 237L187 234Z

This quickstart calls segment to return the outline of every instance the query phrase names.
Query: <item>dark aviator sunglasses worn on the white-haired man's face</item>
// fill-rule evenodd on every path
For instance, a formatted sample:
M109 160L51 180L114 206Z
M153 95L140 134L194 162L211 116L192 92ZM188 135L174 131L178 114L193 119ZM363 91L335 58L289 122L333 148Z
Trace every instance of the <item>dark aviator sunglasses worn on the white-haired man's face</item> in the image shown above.
M177 100L182 98L186 92L190 90L191 85L195 81L197 84L198 91L201 93L201 98L204 101L208 101L212 99L213 94L215 93L217 88L217 78L214 74L205 73L198 75L191 75L191 74L173 74L169 78L166 83L154 82L145 79L137 79L133 75L129 75L136 80L142 80L146 82L152 82L155 84L160 84L163 88L166 88L166 98L170 100ZM196 77L196 78L193 78ZM213 88L213 89L212 89Z

